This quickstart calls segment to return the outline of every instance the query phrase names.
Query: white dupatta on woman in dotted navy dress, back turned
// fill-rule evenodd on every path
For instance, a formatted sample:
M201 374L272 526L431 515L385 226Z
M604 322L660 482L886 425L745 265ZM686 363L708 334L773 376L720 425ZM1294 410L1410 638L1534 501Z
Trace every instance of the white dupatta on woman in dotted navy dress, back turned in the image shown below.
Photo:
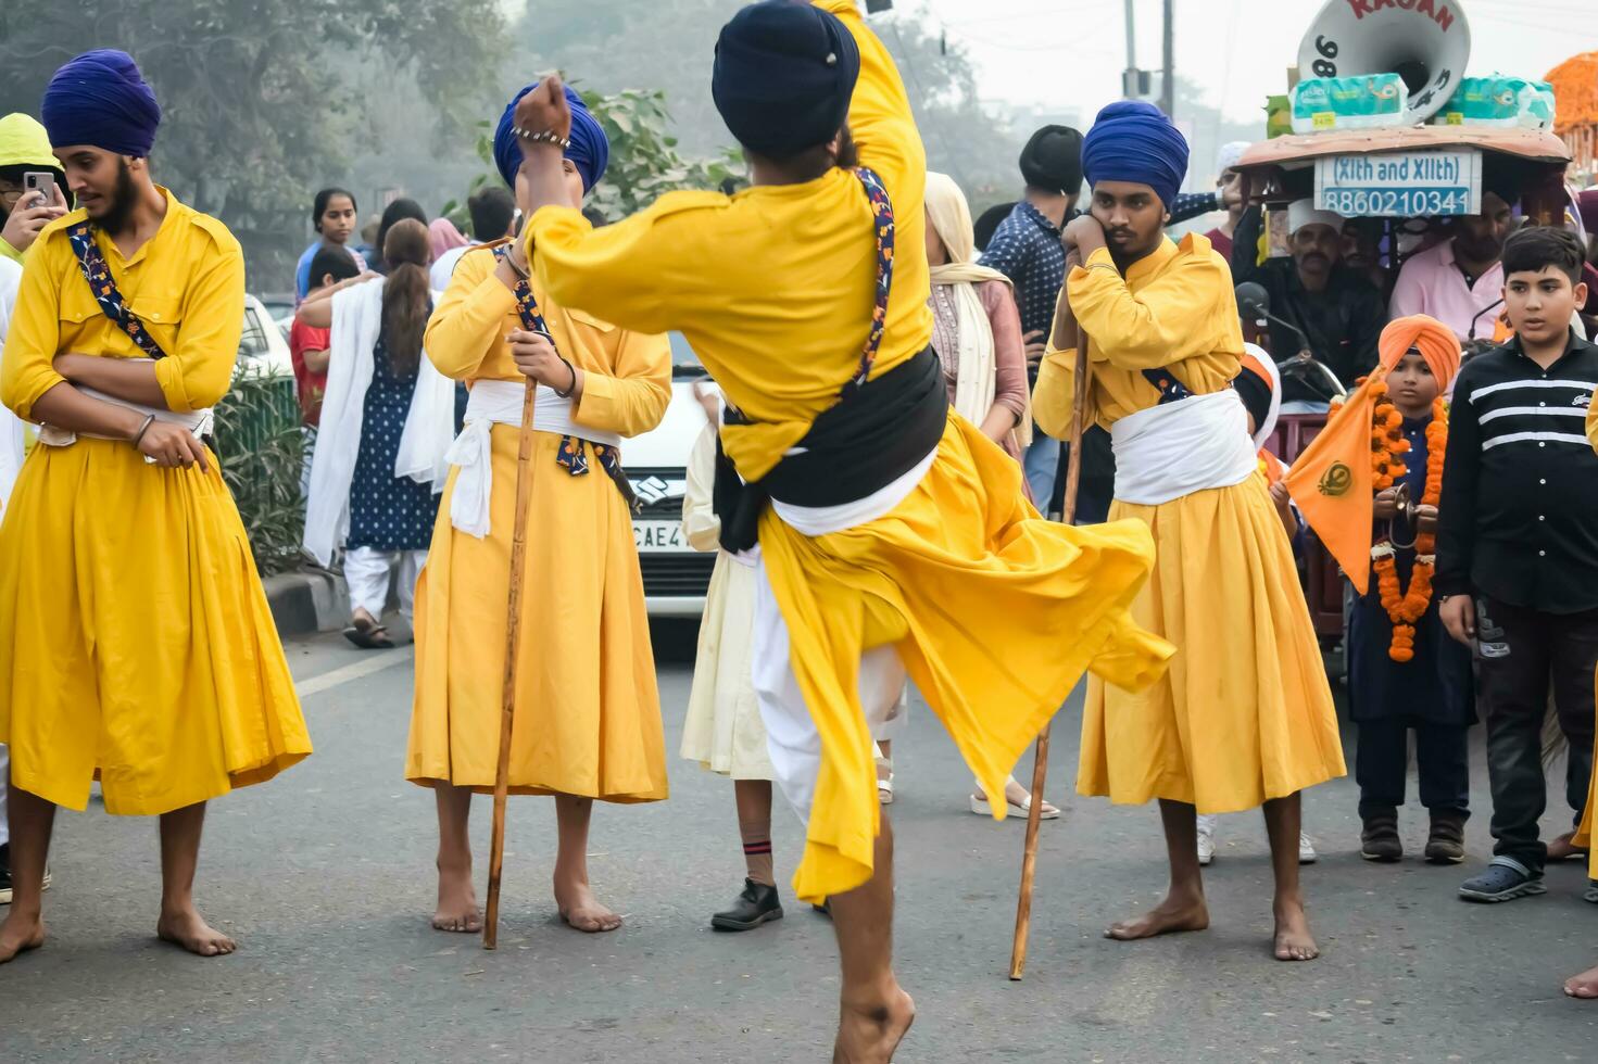
M350 530L350 482L361 451L361 420L366 390L372 383L372 356L384 321L384 284L374 278L332 297L329 334L328 391L321 401L321 425L310 465L310 495L305 502L305 550L323 566ZM436 305L441 294L433 292ZM422 350L417 364L411 411L400 435L395 476L444 490L449 476L446 459L455 438L455 382L438 372Z

